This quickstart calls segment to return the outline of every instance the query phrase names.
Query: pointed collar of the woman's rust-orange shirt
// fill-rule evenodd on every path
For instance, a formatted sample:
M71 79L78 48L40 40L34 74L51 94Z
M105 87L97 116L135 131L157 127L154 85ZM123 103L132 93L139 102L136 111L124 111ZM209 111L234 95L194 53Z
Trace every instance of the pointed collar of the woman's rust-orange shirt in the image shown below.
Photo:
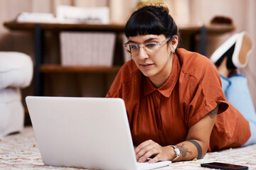
M149 77L143 77L142 84L143 84L143 94L144 96L153 93L154 91L159 91L163 96L168 98L171 96L171 92L174 90L174 86L178 81L178 77L181 71L181 65L178 61L178 56L174 53L174 61L171 68L171 74L167 81L158 89L151 83Z

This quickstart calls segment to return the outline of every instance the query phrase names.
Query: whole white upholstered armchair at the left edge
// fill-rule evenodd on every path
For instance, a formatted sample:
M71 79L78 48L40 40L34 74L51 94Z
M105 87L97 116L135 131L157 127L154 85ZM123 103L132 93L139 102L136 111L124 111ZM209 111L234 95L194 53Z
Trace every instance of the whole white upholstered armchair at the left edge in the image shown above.
M21 89L31 84L33 62L21 52L0 52L0 137L24 125Z

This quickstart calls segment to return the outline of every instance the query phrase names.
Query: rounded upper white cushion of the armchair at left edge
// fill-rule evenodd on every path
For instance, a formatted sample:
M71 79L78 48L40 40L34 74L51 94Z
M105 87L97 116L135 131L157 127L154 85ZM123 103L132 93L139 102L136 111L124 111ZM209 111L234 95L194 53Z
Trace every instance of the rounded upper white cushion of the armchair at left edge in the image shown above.
M21 52L0 52L0 89L31 84L33 62Z

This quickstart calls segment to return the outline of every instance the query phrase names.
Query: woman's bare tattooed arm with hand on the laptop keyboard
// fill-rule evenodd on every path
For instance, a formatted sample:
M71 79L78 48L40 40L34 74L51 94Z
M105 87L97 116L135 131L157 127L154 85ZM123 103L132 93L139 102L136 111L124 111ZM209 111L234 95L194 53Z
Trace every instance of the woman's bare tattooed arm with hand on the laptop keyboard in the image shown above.
M181 152L176 161L201 159L204 157L209 147L210 133L213 130L217 114L218 106L188 130L186 141L176 145ZM142 144L136 147L135 154L138 162L144 162L149 157L154 156L153 159L149 160L149 163L171 161L176 157L174 147L161 147L152 140L142 142Z

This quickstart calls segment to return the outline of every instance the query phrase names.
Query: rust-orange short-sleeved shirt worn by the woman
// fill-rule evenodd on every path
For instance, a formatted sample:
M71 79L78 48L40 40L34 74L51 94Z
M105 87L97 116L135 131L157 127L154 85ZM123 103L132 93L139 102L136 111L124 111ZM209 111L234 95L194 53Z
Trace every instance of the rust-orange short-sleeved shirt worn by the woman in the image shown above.
M177 49L171 74L159 89L133 60L126 62L106 97L124 99L134 145L146 140L161 146L183 142L188 129L217 104L208 151L240 147L250 137L247 120L225 101L217 69L196 52Z

